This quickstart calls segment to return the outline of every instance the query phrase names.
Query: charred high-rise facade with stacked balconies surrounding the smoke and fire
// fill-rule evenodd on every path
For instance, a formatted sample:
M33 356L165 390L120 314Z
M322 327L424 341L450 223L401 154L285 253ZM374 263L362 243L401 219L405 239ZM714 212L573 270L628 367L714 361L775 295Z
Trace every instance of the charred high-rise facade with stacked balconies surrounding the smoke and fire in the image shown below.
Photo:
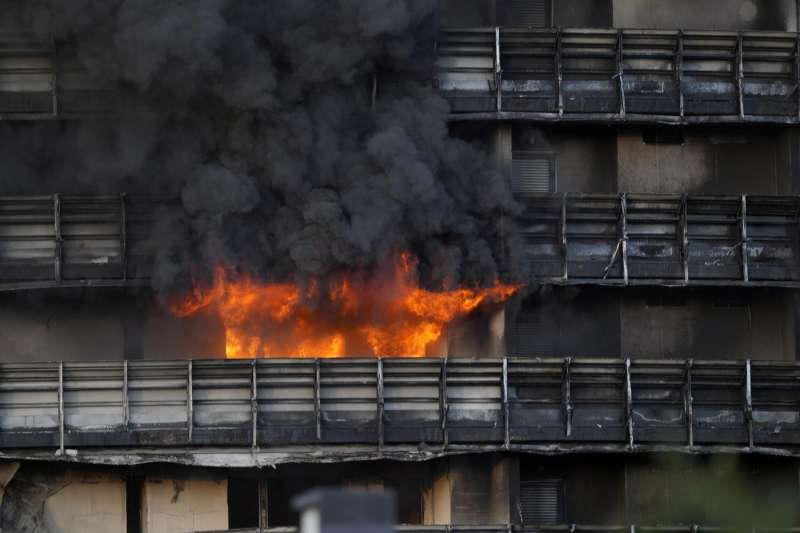
M113 120L12 15L0 122ZM399 531L798 525L800 2L437 18L421 83L510 181L530 287L445 357L225 360L151 288L171 199L0 190L3 530L294 531L317 486L393 489Z

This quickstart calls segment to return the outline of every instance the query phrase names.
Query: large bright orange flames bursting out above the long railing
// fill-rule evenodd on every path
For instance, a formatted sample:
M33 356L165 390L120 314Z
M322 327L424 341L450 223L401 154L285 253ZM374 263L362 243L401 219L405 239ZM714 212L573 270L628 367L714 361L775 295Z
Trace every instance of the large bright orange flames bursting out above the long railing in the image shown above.
M441 355L431 352L448 323L519 289L500 283L422 289L416 258L408 253L398 256L389 275L351 273L320 285L260 283L220 267L213 284L196 286L170 310L181 317L201 310L218 315L230 358L420 357Z

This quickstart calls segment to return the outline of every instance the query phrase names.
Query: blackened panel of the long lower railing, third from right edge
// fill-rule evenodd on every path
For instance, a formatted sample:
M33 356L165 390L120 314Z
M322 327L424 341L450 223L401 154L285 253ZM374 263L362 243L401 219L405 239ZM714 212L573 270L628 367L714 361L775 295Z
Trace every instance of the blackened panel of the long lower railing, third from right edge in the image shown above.
M688 442L687 372L680 361L638 360L631 366L635 442Z

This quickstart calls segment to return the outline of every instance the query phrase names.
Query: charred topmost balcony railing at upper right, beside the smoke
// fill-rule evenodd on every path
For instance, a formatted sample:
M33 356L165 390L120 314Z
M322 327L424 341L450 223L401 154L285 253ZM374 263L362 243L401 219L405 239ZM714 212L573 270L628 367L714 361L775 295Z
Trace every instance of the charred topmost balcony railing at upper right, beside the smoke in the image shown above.
M456 118L796 123L798 35L445 30L436 82Z

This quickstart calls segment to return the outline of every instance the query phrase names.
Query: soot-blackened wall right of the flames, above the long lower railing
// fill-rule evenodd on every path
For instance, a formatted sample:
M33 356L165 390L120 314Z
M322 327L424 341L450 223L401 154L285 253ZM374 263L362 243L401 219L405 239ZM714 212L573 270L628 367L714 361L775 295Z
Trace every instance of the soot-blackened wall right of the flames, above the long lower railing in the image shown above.
M780 291L548 288L509 304L509 355L795 359Z

